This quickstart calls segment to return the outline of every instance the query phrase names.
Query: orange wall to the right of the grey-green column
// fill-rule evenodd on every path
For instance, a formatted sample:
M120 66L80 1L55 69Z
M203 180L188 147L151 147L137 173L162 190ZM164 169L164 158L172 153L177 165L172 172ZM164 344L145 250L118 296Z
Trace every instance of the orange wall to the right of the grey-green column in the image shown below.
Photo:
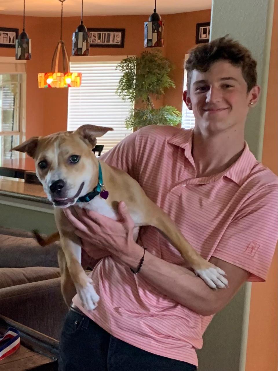
M275 0L262 162L278 173L278 1ZM245 371L277 371L277 249L267 283L252 283Z

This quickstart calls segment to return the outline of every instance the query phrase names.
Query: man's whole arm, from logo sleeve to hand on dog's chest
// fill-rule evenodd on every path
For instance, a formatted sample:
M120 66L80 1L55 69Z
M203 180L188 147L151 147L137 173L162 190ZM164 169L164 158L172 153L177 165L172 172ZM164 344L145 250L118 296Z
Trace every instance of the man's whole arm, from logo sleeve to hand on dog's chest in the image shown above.
M234 296L249 274L250 279L265 280L277 243L277 196L275 188L249 197L244 210L230 223L214 249L210 262L226 272L230 288L212 290L190 270L148 252L139 275L163 295L196 313L216 313ZM115 260L133 269L138 266L143 249L133 241L134 222L123 202L118 208L121 221L94 211L79 209L77 218L70 210L64 209L64 212L81 239L108 250ZM257 247L255 251L250 243L251 247ZM90 249L87 252L90 255Z

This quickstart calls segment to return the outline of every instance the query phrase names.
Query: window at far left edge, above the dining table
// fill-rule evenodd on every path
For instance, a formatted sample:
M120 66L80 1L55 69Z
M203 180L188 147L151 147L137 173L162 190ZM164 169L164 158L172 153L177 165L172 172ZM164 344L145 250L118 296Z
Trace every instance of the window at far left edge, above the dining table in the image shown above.
M25 65L10 60L0 58L0 161L19 157L10 150L19 144L24 126Z

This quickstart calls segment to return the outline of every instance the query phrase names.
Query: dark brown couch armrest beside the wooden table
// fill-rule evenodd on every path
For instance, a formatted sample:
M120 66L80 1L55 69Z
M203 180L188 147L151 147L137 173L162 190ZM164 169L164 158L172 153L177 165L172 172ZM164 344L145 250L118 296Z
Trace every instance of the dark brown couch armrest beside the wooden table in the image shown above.
M0 314L59 339L68 309L60 278L0 289Z

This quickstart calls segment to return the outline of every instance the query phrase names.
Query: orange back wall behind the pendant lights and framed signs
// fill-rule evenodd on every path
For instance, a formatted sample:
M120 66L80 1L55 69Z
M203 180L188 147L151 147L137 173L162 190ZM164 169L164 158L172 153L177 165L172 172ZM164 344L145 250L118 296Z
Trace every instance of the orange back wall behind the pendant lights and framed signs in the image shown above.
M90 55L139 55L144 48L144 22L148 15L140 16L87 16L87 27L125 28L124 48L91 48ZM173 79L176 89L166 92L157 102L176 106L181 110L184 76L184 55L195 45L196 23L210 21L210 10L168 14L165 20L165 46L163 54L175 65ZM71 37L80 17L66 17L63 22L63 39L71 54ZM21 16L0 14L3 27L17 27L21 31ZM26 17L26 31L32 39L32 59L27 61L27 112L26 138L47 135L67 127L67 89L38 89L38 72L50 70L54 48L60 39L60 18ZM14 49L0 48L0 56L14 56Z

